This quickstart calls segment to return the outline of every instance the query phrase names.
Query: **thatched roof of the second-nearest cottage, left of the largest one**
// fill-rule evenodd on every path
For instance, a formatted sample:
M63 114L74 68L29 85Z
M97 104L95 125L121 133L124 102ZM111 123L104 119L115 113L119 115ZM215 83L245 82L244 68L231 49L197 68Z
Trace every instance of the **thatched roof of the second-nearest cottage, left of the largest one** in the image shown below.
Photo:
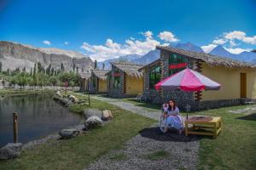
M124 71L129 76L143 77L143 73L138 71L143 65L128 62L110 62L110 64L117 67L120 71Z

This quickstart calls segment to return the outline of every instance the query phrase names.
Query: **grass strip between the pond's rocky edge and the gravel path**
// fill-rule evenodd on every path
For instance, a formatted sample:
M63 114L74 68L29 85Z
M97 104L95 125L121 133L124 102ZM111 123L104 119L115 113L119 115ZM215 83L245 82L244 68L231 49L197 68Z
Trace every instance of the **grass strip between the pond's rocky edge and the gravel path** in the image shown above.
M70 110L80 113L86 107L88 106L73 105ZM96 99L91 99L91 107L111 110L113 122L74 139L53 140L35 150L26 150L19 158L0 161L0 169L83 169L109 150L120 149L125 141L154 123L152 119Z

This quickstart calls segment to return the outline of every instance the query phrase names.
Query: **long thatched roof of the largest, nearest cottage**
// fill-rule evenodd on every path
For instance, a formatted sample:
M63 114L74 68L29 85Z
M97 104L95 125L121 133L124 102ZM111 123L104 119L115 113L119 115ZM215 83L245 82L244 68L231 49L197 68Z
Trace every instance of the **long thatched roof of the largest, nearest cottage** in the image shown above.
M183 49L171 48L171 47L163 47L157 46L157 49L165 50L167 52L171 52L173 54L180 54L192 59L200 59L207 63L210 66L225 66L228 68L256 68L256 65L238 61L236 59L229 59L225 57L219 57L217 55L205 54L205 53L197 53L191 52Z

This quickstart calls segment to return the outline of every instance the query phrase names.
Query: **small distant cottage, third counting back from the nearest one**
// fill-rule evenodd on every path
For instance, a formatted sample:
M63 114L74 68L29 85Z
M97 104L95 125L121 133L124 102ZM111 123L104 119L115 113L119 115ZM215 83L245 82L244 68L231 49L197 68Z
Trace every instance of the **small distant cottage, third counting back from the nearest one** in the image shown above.
M91 93L107 94L107 76L108 71L92 70L90 77Z

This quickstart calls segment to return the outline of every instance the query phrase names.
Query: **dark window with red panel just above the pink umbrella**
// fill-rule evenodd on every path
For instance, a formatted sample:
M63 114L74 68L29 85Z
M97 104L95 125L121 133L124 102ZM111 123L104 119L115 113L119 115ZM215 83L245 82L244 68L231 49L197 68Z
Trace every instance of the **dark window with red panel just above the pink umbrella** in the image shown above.
M173 75L179 71L183 71L188 65L188 59L177 54L169 56L169 75Z

